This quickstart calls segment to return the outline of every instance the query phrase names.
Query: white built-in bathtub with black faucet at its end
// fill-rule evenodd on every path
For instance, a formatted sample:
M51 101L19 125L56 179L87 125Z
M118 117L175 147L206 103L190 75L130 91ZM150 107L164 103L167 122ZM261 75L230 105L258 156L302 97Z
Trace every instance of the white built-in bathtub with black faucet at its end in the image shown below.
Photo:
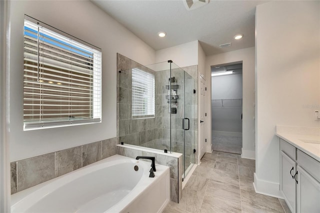
M134 166L138 170L134 170ZM11 195L11 212L161 212L170 199L169 167L121 155Z

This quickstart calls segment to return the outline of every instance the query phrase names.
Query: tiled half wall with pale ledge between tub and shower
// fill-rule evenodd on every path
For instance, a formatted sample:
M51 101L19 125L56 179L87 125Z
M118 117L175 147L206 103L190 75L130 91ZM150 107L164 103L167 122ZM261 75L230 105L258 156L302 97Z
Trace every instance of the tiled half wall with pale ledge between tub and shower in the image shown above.
M142 149L138 146L117 145L117 154L135 158L136 156L154 156L155 163L170 167L170 197L171 201L179 202L182 198L182 154L163 153L157 150ZM143 159L141 159L143 160ZM150 162L150 160L146 160Z

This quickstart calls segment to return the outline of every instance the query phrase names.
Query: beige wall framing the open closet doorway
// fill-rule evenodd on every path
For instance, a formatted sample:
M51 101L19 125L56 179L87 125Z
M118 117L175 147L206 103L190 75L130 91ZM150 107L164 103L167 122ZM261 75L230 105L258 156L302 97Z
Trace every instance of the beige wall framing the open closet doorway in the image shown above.
M242 61L242 157L254 158L254 47L206 56L207 117L211 117L211 65ZM207 134L211 141L211 123ZM208 144L207 151L211 147Z

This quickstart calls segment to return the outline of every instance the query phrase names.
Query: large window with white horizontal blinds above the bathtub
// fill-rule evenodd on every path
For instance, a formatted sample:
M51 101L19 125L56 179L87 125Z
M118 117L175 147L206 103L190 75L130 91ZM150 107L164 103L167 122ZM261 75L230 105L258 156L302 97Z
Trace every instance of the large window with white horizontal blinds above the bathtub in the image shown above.
M101 121L101 50L76 40L25 15L24 130Z

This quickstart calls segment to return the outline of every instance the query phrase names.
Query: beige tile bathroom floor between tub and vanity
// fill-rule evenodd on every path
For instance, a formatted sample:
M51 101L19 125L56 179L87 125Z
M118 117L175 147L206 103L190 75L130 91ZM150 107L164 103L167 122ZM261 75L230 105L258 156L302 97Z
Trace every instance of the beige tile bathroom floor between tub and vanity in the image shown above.
M284 200L254 192L254 171L255 161L240 154L205 153L180 203L170 201L163 212L290 212Z

